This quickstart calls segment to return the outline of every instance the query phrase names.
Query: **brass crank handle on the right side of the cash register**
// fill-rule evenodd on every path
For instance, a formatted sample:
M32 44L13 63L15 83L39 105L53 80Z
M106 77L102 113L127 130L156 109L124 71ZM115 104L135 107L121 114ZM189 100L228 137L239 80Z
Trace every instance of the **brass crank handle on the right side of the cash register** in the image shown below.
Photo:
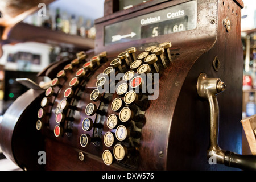
M199 96L207 100L210 106L210 148L208 154L212 154L216 157L217 163L225 166L256 170L256 155L240 155L222 150L218 146L219 107L217 95L225 91L224 82L220 78L208 78L205 73L201 73L196 88Z

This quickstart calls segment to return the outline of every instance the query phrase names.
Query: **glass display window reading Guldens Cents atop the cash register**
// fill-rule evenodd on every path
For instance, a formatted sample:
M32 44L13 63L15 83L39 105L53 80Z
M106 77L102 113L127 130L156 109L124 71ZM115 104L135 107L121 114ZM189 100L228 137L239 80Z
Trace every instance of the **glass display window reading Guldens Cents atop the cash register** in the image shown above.
M104 27L104 45L193 30L197 26L197 1L189 1Z

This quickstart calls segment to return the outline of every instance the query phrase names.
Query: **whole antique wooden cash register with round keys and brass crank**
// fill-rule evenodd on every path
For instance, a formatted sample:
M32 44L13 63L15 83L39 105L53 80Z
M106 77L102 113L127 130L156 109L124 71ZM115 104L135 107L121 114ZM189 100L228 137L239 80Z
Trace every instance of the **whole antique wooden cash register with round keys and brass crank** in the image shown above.
M24 170L256 169L241 155L242 7L105 0L93 50L49 65L44 87L18 80L31 89L3 117L3 153Z

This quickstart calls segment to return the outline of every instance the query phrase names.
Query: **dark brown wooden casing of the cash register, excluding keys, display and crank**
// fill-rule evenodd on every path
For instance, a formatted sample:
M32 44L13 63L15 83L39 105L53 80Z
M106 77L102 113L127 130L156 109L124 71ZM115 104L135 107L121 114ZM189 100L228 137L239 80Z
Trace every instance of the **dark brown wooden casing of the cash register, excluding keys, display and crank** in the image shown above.
M224 93L218 96L220 106L220 147L241 154L242 147L242 70L241 1L197 1L197 27L194 30L160 35L154 38L133 40L112 46L104 46L104 26L151 13L182 1L148 1L127 10L116 11L113 0L105 1L104 17L97 19L95 49L88 51L88 59L102 51L108 52L108 62L101 65L86 84L88 90L96 89L96 76L109 66L110 61L129 47L136 47L136 55L153 44L172 43L172 61L163 69L159 78L159 97L150 100L144 112L146 121L141 130L138 161L133 167L115 162L106 166L102 152L108 149L101 142L81 147L81 122L84 111L76 113L79 121L73 122L71 137L55 137L55 109L64 98L64 87L75 76L67 73L67 81L61 80L54 105L49 112L49 127L36 130L37 112L44 90L29 90L7 110L1 123L1 148L7 158L27 170L229 170L222 164L210 165L207 158L209 147L209 106L197 95L197 77L201 72L209 77L221 78L226 84ZM228 32L224 20L230 19ZM217 63L213 62L218 59ZM39 76L56 77L68 61L46 68ZM215 68L214 68L215 67ZM219 68L218 68L219 67ZM218 69L217 69L218 68ZM65 86L66 85L66 86ZM56 89L56 88L55 88ZM90 91L91 92L91 91ZM90 93L89 92L89 93ZM89 93L84 93L77 106L86 106ZM113 94L112 100L117 97ZM110 102L111 103L111 102ZM97 102L97 106L100 102ZM110 104L106 116L113 114ZM104 118L106 119L106 117ZM103 134L109 131L104 123ZM89 133L93 135L92 132ZM46 151L46 165L38 164L38 152ZM85 158L79 160L79 152Z

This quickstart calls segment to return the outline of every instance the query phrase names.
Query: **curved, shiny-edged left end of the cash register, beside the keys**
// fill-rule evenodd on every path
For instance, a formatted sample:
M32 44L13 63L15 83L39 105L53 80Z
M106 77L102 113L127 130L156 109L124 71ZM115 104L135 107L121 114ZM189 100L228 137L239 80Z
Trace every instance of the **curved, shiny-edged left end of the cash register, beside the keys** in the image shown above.
M3 154L22 169L40 168L37 156L43 150L42 136L36 132L35 119L44 91L30 89L7 109L0 125ZM36 160L35 160L36 159Z

